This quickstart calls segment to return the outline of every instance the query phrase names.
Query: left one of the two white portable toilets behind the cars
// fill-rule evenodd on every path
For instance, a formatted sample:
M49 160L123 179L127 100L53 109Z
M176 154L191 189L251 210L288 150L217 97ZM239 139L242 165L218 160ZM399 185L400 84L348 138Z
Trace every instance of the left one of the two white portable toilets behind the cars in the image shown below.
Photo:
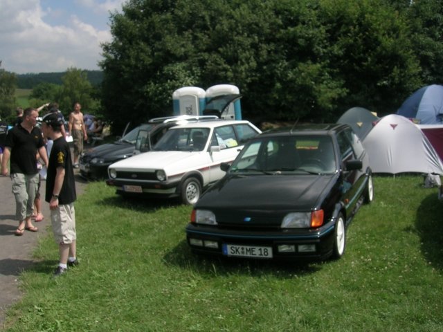
M197 86L183 86L172 93L174 116L201 116L206 104L206 92Z

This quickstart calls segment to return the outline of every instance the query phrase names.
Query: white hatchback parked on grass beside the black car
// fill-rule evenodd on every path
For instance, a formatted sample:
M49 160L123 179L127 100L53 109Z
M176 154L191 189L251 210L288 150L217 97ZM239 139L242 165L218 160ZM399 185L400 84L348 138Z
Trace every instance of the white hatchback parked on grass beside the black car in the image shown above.
M180 197L195 204L202 190L224 176L244 142L260 133L246 120L212 120L172 127L152 151L109 166L117 194Z

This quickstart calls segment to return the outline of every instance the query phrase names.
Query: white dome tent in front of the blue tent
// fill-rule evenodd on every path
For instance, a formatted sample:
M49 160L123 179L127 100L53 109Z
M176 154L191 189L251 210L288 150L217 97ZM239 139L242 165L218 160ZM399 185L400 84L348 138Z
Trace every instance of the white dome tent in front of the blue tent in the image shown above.
M416 124L391 114L384 116L363 140L374 173L443 174L442 161Z

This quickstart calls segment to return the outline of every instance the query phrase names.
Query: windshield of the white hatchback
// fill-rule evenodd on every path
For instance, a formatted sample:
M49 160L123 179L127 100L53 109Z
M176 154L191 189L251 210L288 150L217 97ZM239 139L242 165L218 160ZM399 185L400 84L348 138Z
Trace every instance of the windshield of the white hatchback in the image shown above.
M209 128L172 128L152 151L202 151L208 142L209 131Z

